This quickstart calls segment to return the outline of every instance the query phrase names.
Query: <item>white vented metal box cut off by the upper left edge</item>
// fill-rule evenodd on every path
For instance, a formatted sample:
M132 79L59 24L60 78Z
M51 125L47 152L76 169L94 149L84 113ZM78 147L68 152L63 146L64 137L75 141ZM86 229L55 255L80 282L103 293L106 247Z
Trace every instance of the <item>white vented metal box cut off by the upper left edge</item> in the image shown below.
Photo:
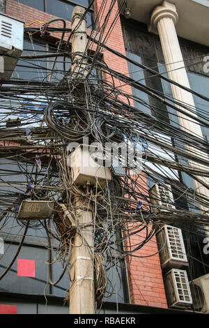
M0 14L0 78L9 79L22 54L24 22Z

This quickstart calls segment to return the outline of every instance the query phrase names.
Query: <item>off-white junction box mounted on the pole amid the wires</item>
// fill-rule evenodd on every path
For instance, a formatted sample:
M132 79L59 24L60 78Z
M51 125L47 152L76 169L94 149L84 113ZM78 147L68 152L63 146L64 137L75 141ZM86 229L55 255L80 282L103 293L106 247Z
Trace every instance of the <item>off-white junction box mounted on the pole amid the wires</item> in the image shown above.
M71 167L72 183L77 186L89 184L98 186L98 189L105 188L111 181L109 167L100 165L95 161L88 146L79 145L72 153L68 161Z

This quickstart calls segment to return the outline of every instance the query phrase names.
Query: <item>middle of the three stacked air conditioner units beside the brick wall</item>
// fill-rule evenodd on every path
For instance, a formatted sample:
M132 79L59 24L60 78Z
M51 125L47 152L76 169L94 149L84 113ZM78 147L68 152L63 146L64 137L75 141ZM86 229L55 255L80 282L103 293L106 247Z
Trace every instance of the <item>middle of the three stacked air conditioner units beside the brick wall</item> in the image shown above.
M185 244L180 228L164 225L156 234L162 269L188 265Z

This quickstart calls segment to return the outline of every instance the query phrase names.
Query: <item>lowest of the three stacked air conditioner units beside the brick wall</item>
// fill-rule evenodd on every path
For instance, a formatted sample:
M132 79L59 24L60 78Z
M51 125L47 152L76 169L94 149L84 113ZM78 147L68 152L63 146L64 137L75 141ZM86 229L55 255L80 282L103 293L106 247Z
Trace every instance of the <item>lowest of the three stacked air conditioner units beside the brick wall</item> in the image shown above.
M187 271L171 269L164 276L164 288L169 307L190 308L192 306L192 295L189 288Z

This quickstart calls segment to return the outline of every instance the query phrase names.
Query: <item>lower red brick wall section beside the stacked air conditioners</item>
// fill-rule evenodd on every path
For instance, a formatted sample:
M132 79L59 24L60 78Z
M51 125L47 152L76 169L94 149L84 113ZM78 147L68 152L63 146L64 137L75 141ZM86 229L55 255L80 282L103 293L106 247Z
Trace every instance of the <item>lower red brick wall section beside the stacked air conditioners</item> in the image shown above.
M141 172L138 184L141 188L141 193L148 197L148 187L144 172ZM142 200L142 202L144 204L144 210L146 210L148 204L146 204L144 200ZM139 216L138 224L133 223L128 225L130 233L134 232L134 230L139 230L140 223L141 218ZM149 231L151 227L152 224L148 224ZM131 249L133 250L136 248L140 242L144 241L145 237L145 229L130 237ZM130 245L127 241L125 242L124 246L127 246L126 251L130 251ZM139 249L139 251L134 252L132 257L127 258L127 276L130 289L130 301L132 304L167 308L160 258L157 251L157 242L154 235L150 241ZM157 254L153 255L155 253Z

